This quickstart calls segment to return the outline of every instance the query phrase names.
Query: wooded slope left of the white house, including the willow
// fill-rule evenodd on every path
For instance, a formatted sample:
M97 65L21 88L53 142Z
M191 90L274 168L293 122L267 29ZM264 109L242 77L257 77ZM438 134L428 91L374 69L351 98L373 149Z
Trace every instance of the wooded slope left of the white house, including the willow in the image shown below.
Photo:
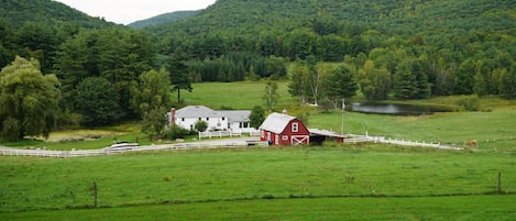
M0 140L110 124L147 110L142 99L153 95L135 93L140 76L156 67L149 34L51 0L7 0L0 11Z

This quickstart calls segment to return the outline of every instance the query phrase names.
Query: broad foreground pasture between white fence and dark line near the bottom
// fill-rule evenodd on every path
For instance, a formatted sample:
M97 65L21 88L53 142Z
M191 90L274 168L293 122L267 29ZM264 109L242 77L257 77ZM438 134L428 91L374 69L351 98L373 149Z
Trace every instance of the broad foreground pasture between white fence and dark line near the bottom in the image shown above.
M514 156L388 146L2 157L0 211L226 200L516 192Z

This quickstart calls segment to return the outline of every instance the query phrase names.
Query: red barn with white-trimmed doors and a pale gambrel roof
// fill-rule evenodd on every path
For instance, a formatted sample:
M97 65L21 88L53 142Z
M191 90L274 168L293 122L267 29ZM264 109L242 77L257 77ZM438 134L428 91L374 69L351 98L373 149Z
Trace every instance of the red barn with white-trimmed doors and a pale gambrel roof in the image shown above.
M310 143L310 132L294 117L271 113L260 126L260 140L271 145L299 145Z

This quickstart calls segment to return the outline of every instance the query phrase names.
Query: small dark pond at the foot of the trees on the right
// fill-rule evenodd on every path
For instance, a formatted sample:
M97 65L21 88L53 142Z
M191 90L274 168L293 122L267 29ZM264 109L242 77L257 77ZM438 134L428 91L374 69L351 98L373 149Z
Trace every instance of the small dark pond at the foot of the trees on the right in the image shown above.
M375 113L375 114L392 114L392 115L420 115L431 114L435 112L449 112L442 108L429 106L413 106L399 103L378 103L378 102L353 102L350 108L353 112L361 113Z

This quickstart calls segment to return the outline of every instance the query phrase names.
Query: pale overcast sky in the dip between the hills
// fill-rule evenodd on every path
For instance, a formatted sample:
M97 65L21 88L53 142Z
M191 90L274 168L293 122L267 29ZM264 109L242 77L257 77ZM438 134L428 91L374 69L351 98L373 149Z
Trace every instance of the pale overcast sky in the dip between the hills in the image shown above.
M158 14L206 9L216 0L56 0L91 16L129 24Z

